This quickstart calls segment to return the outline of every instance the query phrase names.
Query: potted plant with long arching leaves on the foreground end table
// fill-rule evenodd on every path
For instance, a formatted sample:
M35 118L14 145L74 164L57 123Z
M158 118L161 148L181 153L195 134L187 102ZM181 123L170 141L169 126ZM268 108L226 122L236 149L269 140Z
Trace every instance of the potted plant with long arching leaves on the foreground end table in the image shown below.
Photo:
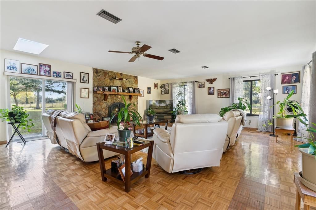
M143 120L142 116L137 112L136 105L134 103L126 103L123 95L121 95L124 101L125 107L121 108L119 111L111 114L110 126L113 118L117 115L118 121L118 131L119 131L119 141L125 143L125 138L131 137L131 119L133 123L140 126L139 120ZM132 108L132 105L134 108Z

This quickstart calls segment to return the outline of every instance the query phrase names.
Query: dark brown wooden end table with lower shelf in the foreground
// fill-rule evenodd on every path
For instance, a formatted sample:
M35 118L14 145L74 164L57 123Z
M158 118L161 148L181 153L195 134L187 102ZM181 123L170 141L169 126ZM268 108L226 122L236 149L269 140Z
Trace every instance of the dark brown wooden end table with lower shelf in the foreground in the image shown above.
M117 173L112 172L111 168L106 170L105 164L104 164L103 149L116 152L119 154L123 154L125 156L125 192L131 191L131 184L133 184L134 182L137 182L143 176L145 176L145 178L149 178L151 157L153 155L153 148L154 148L154 141L143 140L143 139L142 141L146 143L142 146L134 145L134 147L131 149L125 148L125 144L121 144L121 143L113 143L113 144L105 144L104 142L97 143L102 181L105 182L109 178L113 180L114 182L124 184L124 181L118 178L119 172ZM141 172L133 172L133 174L131 175L131 154L138 152L141 149L145 149L146 147L149 147L148 154L147 154L146 168L143 168Z

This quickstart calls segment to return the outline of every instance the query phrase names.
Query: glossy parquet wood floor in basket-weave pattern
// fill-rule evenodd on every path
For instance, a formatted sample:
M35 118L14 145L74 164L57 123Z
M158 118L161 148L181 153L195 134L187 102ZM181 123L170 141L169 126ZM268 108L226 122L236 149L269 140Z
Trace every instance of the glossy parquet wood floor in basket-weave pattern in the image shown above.
M150 178L126 193L121 184L102 182L98 162L82 162L48 139L14 142L0 145L0 209L294 209L299 171L301 153L289 136L276 143L242 131L220 167L169 174L153 159Z

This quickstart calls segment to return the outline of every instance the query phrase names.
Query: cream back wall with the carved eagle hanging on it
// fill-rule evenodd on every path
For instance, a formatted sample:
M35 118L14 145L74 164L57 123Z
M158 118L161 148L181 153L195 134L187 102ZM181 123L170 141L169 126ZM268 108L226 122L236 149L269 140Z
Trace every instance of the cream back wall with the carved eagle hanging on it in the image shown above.
M187 81L204 81L205 82L205 88L197 88L196 87L196 114L205 114L205 113L216 113L221 110L222 107L226 107L229 105L229 98L217 98L217 89L222 88L230 88L230 82L229 79L232 76L255 76L263 73L279 73L279 75L276 75L275 78L275 89L279 89L279 93L276 95L276 100L283 100L287 95L282 94L282 86L281 85L281 73L284 72L293 72L293 71L300 71L300 77L301 77L301 69L302 65L297 66L289 66L289 67L277 67L273 69L264 69L264 70L254 70L254 71L245 71L245 72L239 72L234 74L209 74L207 76L198 76L198 77L190 77L190 78L182 78L182 79L165 79L161 80L161 84L165 83L173 83L173 82L187 82ZM205 79L210 78L217 78L217 80L214 82L214 84L209 84L205 81ZM258 78L258 77L256 77ZM300 78L301 79L301 78ZM302 82L295 84L297 85L297 94L294 94L292 96L293 100L296 100L298 102L301 102L301 88L302 88ZM215 87L215 95L207 95L207 87ZM161 90L161 89L160 89ZM169 92L171 93L171 90L169 88ZM170 100L172 99L171 94L165 94L161 95L162 100ZM277 110L275 110L277 111ZM256 128L258 125L258 117L247 117L248 122L251 120L250 127ZM248 126L248 124L246 125Z

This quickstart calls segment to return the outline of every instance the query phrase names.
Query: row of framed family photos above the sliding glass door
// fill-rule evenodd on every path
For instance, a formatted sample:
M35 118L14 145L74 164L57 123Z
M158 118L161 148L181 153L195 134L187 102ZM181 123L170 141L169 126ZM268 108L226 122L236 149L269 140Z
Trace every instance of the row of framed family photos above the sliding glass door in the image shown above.
M37 64L29 64L29 63L20 63L20 61L13 60L13 59L4 59L4 71L5 72L13 72L13 73L21 73L21 74L32 74L38 76L45 76L45 77L56 77L56 78L63 78L64 75L65 79L73 79L72 72L61 72L61 71L53 71L52 65L39 63ZM88 73L85 73L88 74ZM86 83L89 83L86 82Z

